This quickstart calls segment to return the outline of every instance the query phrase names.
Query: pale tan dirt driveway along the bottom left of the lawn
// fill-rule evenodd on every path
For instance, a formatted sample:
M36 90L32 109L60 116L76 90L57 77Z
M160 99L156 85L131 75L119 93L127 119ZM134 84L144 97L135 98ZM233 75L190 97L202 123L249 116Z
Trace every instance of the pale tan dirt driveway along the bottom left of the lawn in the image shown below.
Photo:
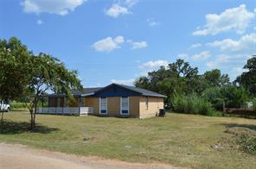
M0 168L178 168L163 164L138 164L98 157L80 157L66 153L38 150L22 145L0 143Z

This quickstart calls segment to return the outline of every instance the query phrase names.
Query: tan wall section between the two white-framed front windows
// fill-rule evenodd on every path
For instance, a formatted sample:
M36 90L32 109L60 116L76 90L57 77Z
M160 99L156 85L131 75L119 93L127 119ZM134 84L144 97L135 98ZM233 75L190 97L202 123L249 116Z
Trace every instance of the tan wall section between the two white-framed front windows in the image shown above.
M107 114L109 116L120 115L120 97L107 97Z

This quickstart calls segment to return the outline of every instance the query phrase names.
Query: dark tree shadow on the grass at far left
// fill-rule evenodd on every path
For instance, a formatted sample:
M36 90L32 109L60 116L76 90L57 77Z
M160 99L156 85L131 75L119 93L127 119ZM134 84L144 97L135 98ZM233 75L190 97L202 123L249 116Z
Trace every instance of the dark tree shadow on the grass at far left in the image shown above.
M15 135L22 134L25 132L48 134L57 130L59 130L59 128L48 128L47 126L42 126L40 124L35 124L35 128L30 129L29 122L0 122L0 135Z

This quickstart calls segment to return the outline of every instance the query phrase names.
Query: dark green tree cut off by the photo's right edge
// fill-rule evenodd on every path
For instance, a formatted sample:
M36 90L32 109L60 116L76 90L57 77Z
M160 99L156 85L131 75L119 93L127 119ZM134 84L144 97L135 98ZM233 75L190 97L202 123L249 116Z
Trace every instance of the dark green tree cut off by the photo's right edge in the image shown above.
M236 78L235 82L246 88L250 96L256 97L256 55L248 59L243 68L247 72L243 72Z

